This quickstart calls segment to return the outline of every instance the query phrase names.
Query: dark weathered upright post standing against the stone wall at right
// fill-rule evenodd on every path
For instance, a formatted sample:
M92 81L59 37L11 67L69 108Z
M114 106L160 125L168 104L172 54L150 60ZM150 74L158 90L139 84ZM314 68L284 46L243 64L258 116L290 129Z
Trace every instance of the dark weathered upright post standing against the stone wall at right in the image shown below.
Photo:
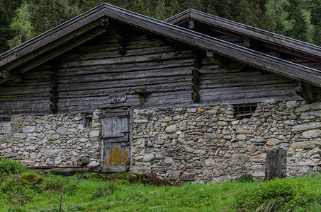
M271 148L266 153L265 180L286 177L286 150Z

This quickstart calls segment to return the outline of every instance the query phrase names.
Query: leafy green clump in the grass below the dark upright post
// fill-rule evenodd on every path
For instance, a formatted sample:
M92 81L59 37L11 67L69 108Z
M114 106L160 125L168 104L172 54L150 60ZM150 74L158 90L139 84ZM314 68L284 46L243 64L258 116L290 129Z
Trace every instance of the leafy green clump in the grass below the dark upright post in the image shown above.
M274 179L235 195L235 211L294 211L317 201L317 195L295 179Z

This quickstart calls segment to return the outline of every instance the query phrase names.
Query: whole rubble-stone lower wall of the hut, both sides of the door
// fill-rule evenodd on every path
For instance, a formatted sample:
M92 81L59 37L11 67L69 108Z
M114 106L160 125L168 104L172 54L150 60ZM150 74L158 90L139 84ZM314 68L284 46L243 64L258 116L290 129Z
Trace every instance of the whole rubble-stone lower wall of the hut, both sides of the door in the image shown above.
M0 157L28 167L100 167L101 111L20 115L0 135ZM266 151L287 151L287 175L321 172L321 103L259 103L250 119L237 120L232 105L134 110L133 172L156 172L173 181L221 182L242 174L263 178Z

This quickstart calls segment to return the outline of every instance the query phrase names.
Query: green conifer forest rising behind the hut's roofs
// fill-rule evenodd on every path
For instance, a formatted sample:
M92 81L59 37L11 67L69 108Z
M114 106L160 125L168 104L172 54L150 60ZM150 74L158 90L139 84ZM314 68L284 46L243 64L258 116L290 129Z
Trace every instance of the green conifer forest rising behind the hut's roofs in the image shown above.
M159 20L194 8L321 45L321 0L0 0L0 53L104 2Z

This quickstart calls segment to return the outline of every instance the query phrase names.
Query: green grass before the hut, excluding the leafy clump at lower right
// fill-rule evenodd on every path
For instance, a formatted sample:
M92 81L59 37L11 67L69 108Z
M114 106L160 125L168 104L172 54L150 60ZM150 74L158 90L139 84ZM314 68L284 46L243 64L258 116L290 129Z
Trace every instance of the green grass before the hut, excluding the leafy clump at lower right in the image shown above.
M121 174L109 179L94 174L86 178L40 175L41 179L34 177L37 179L31 182L21 180L30 178L23 175L25 172L1 175L0 211L59 211L61 195L62 211L72 211L72 207L77 211L240 211L232 208L236 195L264 184L223 182L157 187L137 180L130 182ZM321 211L321 175L295 177L293 181L316 194L319 201L294 211Z

